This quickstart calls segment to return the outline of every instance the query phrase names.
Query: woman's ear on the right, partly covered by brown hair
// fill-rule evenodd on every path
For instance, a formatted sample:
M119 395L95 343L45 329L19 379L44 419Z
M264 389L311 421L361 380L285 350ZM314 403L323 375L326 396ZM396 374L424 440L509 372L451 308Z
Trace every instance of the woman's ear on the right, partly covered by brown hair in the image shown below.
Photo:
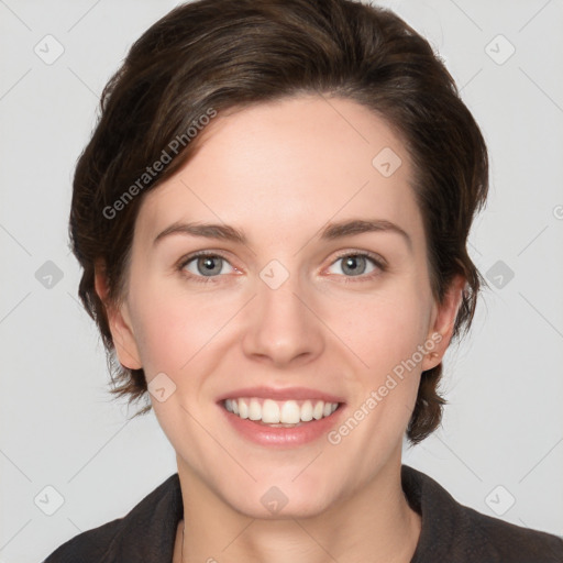
M430 331L427 335L427 342L432 342L434 346L424 355L422 360L422 371L435 367L442 361L450 341L452 340L455 318L460 309L465 288L465 278L462 275L454 276L444 295L441 303L434 305L432 313L433 320Z

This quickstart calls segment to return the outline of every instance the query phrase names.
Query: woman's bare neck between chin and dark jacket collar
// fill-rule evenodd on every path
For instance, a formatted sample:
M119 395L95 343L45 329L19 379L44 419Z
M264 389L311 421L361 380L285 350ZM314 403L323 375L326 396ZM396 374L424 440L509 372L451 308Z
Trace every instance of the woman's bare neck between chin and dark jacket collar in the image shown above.
M175 562L409 563L420 536L420 516L409 507L400 484L400 455L360 490L307 518L250 518L185 466L178 465L178 475L184 521Z

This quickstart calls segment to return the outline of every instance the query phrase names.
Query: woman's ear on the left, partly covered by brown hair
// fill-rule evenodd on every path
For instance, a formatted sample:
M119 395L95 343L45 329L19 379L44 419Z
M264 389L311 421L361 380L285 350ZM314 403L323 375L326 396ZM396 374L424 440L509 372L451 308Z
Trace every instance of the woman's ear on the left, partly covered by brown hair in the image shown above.
M143 365L141 363L126 303L115 306L108 298L108 278L106 276L106 268L101 262L96 264L93 277L96 292L106 308L111 338L113 339L113 345L115 346L119 362L123 367L128 367L129 369L140 369Z

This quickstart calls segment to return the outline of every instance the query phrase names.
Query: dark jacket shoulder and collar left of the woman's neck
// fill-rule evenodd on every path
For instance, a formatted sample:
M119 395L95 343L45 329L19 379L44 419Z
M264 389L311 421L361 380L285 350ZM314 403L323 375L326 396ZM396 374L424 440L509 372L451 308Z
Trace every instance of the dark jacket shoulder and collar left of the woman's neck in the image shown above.
M75 536L43 563L117 563L128 556L150 563L163 561L163 555L166 556L168 551L172 561L176 527L183 511L181 489L176 473L124 517Z

